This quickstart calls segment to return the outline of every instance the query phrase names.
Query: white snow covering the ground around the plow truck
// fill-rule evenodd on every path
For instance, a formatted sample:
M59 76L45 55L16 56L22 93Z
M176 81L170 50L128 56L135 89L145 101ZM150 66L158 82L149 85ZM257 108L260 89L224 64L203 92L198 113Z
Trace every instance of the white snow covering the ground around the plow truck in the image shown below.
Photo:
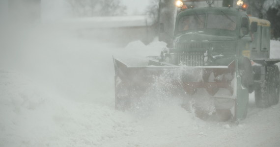
M6 30L0 44L0 147L279 147L280 105L247 119L202 121L177 98L136 111L114 109L112 56L160 53L165 43L126 47L75 31L34 26ZM272 58L280 42L271 41ZM154 96L157 97L157 96Z

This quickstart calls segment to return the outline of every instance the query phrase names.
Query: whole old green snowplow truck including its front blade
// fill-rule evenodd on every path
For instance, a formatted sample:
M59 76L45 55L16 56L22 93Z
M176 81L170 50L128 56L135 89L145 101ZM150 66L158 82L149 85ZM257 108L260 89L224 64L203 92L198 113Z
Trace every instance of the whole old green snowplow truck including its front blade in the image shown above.
M115 108L132 106L132 99L153 89L158 77L166 78L174 93L207 93L217 111L228 110L237 121L246 118L252 92L258 107L277 104L280 59L269 58L270 26L240 8L209 5L181 11L172 48L145 59L113 58Z

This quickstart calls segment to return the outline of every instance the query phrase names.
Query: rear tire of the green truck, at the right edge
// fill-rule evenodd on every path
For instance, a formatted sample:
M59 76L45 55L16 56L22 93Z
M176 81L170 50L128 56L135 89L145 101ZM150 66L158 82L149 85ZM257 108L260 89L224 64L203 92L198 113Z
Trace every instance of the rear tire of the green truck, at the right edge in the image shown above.
M265 108L279 102L279 68L277 65L266 67L265 81L255 87L255 103L257 107Z

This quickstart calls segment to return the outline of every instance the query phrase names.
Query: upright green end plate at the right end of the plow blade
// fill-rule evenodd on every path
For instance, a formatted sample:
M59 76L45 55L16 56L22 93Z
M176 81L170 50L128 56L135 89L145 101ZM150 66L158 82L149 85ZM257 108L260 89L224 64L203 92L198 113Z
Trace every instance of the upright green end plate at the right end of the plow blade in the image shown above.
M238 75L238 74L237 74ZM234 106L234 120L239 121L247 117L249 91L241 84L241 77L237 76L236 83L236 100Z

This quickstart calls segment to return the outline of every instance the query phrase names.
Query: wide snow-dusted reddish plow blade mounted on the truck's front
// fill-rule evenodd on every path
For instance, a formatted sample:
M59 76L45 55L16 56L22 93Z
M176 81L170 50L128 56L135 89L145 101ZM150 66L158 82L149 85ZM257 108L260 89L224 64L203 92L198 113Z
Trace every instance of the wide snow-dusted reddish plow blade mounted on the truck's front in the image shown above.
M116 109L130 107L131 99L141 98L161 77L167 79L170 91L181 88L192 96L198 89L206 90L209 98L216 99L216 109L231 109L235 120L247 114L249 93L237 76L236 60L228 66L197 67L176 66L152 57L138 61L113 58L113 61Z

